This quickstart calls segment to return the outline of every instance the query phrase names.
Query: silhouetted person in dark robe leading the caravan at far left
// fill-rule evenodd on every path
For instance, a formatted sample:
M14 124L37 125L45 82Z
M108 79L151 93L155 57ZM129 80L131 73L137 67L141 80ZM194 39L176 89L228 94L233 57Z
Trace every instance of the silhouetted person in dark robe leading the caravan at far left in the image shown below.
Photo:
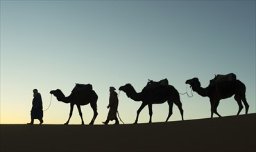
M44 121L42 120L43 117L43 110L42 110L42 97L41 94L38 93L37 89L33 90L34 98L32 101L32 109L31 109L31 122L28 124L34 124L34 119L40 121L42 124Z

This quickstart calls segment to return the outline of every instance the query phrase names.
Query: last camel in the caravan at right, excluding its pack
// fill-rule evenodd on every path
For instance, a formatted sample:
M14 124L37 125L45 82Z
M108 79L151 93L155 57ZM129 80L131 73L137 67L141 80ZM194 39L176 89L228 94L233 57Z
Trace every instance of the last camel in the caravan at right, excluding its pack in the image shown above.
M198 95L210 98L211 117L213 116L213 113L221 117L221 115L219 115L217 112L219 102L221 99L232 97L232 95L234 95L234 99L237 101L239 106L237 115L239 115L241 110L244 108L242 102L244 102L244 106L246 106L246 114L248 113L249 105L246 101L246 86L238 79L217 84L214 83L206 88L202 88L200 86L199 79L195 77L193 79L188 79L186 84L190 84L193 91L198 93Z

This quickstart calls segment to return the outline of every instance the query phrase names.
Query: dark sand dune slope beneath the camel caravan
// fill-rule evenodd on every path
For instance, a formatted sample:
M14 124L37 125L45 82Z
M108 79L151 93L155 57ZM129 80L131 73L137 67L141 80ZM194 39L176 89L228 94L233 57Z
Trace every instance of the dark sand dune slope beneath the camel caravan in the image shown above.
M0 151L256 151L255 113L153 124L0 127Z

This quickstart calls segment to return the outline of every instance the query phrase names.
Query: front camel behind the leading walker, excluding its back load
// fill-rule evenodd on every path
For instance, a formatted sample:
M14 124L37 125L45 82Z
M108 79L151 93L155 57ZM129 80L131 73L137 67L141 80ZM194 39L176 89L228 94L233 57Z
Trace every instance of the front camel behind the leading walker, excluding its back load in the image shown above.
M65 95L60 91L60 89L57 89L55 91L50 91L51 94L57 97L58 101L60 102L65 102L65 103L70 103L70 113L69 113L69 119L65 124L69 124L69 120L72 116L73 113L73 108L74 105L76 104L79 115L82 120L82 124L85 124L83 122L83 115L80 106L90 104L93 111L94 111L94 116L92 117L92 120L89 124L94 124L94 120L96 119L98 113L97 113L97 100L98 100L98 95L95 93L94 90L89 89L89 88L74 88L72 93L68 96L65 97Z

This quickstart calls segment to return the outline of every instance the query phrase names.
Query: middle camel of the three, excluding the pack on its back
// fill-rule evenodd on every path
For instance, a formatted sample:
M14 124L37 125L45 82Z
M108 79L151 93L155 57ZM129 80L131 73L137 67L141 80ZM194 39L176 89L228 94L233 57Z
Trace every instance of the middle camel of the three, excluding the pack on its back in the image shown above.
M127 97L139 102L142 101L142 105L139 107L137 111L137 117L135 120L135 124L138 122L139 113L142 109L148 105L149 110L149 123L152 122L152 104L163 104L164 102L168 102L169 104L169 114L167 116L166 122L169 120L173 113L173 103L176 104L180 110L180 114L183 120L183 109L182 103L180 102L180 95L176 88L171 85L168 86L157 86L156 88L147 89L144 87L141 93L137 93L131 84L126 84L124 86L120 86L119 91L123 91L126 93Z

